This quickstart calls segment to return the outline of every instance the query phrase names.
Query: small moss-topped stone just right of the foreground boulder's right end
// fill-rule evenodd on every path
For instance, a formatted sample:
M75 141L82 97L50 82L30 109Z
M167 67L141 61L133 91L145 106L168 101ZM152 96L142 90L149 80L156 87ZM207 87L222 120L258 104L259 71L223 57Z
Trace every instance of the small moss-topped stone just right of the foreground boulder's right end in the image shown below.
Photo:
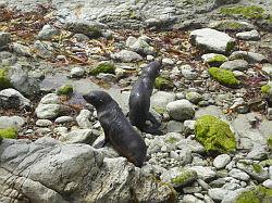
M184 170L175 178L171 179L174 187L183 187L193 183L197 179L197 173L194 170Z

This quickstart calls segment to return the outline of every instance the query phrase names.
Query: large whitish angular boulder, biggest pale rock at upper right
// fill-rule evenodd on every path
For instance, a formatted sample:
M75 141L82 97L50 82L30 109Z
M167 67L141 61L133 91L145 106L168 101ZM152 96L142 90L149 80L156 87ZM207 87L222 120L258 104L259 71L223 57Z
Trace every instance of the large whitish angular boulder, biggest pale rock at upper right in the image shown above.
M211 28L196 29L190 33L191 42L217 53L227 53L234 48L235 39L227 34Z

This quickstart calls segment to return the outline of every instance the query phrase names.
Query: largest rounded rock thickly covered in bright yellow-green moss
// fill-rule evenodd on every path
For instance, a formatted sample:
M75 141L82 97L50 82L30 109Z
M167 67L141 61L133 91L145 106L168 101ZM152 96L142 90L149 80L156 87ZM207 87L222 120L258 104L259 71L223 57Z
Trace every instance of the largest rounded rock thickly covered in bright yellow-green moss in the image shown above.
M235 136L230 126L214 116L198 118L195 135L207 152L227 153L236 149Z

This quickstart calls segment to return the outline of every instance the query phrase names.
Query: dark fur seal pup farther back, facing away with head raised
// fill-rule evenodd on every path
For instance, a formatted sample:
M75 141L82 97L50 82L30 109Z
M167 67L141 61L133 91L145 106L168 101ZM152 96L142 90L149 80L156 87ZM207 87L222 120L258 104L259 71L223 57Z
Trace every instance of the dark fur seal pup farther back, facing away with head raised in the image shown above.
M132 125L136 126L140 131L158 135L162 134L158 129L161 124L149 112L149 109L150 97L153 91L154 80L160 74L160 67L161 62L158 61L153 61L144 67L139 79L131 91L128 113ZM150 120L152 125L146 125L146 120Z

